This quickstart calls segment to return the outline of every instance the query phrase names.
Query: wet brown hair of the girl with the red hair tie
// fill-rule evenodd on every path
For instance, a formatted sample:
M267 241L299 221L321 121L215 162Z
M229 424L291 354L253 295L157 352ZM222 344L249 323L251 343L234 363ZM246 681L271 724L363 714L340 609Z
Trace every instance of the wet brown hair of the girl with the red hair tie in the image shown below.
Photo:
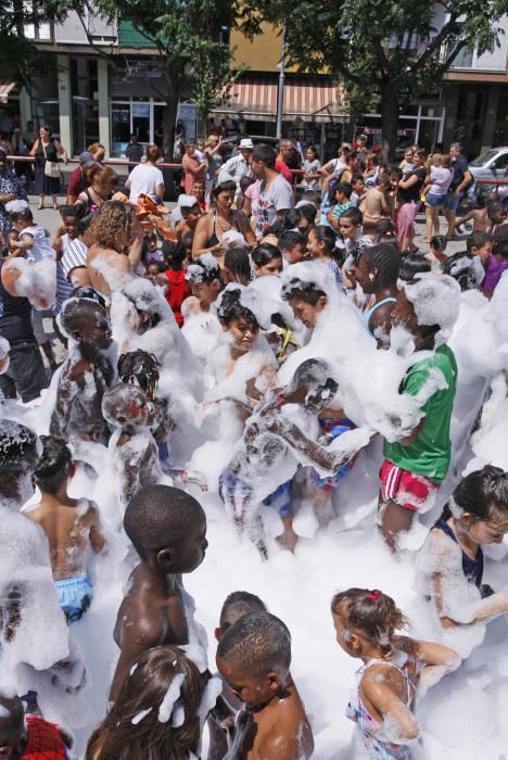
M340 606L345 607L344 624L361 631L365 637L390 651L396 633L407 628L408 621L395 601L378 590L347 588L332 599L332 615L340 615Z

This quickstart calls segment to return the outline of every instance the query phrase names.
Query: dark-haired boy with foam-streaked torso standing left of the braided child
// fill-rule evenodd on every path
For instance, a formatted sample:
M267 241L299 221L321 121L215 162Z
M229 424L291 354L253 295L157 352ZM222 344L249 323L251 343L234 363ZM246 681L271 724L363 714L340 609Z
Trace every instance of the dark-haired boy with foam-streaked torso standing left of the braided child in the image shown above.
M110 320L101 304L88 297L65 301L60 318L75 344L59 378L50 433L104 442L107 430L101 403L113 379L113 367L103 353L113 343Z

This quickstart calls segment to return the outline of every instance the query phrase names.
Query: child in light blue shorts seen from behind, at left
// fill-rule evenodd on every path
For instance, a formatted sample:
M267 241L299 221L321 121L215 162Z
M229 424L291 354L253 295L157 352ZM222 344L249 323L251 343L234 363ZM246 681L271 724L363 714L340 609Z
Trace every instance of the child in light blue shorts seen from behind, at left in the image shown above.
M87 553L104 549L97 506L88 498L71 498L69 479L76 471L71 449L52 435L42 435L42 456L35 470L40 503L27 512L45 531L54 584L68 623L90 606L93 586L87 572Z

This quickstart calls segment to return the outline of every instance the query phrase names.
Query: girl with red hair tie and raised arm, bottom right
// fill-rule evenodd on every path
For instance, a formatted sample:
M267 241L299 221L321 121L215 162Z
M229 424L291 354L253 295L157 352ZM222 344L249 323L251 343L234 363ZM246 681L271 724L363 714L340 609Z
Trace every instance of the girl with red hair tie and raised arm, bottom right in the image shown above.
M331 611L338 643L364 662L346 715L358 725L365 757L414 760L420 736L414 714L417 683L437 683L460 659L441 644L396 635L407 621L380 591L348 588L335 594Z

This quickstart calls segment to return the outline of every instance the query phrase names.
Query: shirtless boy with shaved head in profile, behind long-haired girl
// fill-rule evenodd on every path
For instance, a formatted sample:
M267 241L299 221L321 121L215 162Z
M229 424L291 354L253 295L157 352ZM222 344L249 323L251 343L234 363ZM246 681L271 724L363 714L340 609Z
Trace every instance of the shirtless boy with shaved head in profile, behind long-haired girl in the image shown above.
M113 701L141 651L166 644L199 645L203 637L181 580L182 573L201 565L208 545L200 503L179 489L145 486L129 502L124 529L140 561L130 574L113 634L120 649L110 692Z

